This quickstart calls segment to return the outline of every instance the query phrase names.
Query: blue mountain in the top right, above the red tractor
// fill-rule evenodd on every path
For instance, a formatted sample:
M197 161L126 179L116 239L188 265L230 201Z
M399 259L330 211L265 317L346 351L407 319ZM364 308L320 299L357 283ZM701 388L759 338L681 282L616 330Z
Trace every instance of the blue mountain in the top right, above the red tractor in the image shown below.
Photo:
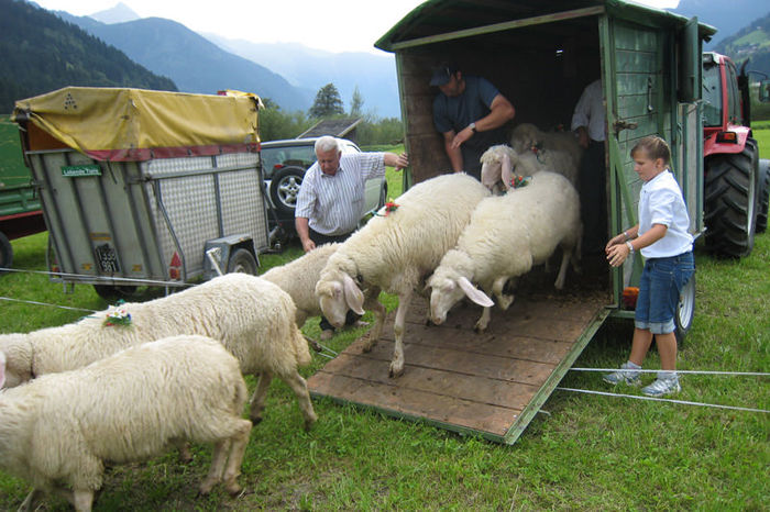
M669 10L688 18L697 16L701 23L715 26L718 32L703 45L704 49L713 51L722 40L770 12L770 4L767 0L680 0L675 9Z

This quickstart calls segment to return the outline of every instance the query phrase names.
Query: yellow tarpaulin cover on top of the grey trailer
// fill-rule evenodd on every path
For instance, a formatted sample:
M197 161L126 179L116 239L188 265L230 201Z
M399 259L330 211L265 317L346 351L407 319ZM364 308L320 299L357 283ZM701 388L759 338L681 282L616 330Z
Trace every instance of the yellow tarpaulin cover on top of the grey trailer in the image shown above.
M260 98L128 88L66 87L15 102L32 123L98 160L256 151Z

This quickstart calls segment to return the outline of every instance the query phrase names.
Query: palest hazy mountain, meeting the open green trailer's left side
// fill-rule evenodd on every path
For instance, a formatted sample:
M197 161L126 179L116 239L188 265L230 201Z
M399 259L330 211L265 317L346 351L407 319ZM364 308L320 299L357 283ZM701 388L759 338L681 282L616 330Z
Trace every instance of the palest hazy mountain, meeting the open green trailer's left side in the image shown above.
M310 99L329 82L350 108L353 91L359 88L364 112L381 118L400 118L396 60L393 55L363 52L332 53L298 43L252 43L205 34L220 47L280 74L295 86L308 90Z

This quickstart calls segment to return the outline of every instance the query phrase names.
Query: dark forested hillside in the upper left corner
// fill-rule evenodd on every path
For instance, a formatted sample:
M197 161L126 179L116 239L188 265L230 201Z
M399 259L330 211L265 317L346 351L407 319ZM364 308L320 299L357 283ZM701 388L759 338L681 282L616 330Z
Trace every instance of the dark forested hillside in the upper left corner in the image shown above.
M66 86L177 90L78 26L22 0L0 0L0 113Z

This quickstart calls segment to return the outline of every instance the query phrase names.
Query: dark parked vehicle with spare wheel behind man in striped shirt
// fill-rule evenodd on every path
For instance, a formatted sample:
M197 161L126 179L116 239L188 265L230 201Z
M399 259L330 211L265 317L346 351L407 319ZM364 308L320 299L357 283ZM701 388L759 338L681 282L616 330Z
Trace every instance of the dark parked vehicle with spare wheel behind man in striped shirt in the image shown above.
M287 138L262 143L262 166L265 190L270 198L271 241L279 243L296 236L294 209L299 186L307 169L316 162L315 144L318 137ZM340 138L343 154L360 153L353 142ZM364 209L361 219L382 208L387 201L387 180L373 178L366 181Z

